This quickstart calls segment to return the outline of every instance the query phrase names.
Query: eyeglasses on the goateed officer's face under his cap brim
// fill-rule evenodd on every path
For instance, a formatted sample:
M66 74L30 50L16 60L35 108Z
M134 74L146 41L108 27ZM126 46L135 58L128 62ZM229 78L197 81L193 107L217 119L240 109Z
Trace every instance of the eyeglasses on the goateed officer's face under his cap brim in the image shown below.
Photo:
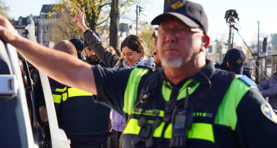
M204 31L195 28L155 28L155 35L160 38L165 38L172 32L176 38L183 39L189 33L203 33Z

